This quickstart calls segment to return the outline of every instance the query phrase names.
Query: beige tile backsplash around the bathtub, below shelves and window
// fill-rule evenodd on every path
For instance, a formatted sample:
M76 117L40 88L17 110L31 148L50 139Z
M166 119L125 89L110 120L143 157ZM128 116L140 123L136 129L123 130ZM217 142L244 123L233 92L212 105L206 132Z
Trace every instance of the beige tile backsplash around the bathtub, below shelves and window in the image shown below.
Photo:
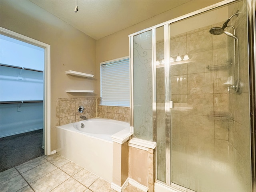
M100 98L59 98L56 101L56 126L81 121L80 115L87 118L108 118L130 122L130 108L116 106L100 106ZM77 111L84 106L84 112Z

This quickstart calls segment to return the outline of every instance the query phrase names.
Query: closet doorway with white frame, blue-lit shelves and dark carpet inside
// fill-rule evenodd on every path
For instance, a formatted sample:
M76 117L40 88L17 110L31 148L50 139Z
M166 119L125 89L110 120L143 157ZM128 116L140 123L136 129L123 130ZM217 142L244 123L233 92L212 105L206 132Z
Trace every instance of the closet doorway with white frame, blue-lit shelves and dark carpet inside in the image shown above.
M49 155L50 45L4 28L0 28L0 35L1 147L6 144L8 138L10 145L8 144L6 148L10 148L12 154L20 154L22 157L15 158L20 158L21 161L30 156L35 158L34 156L38 154ZM14 143L11 140L19 144L11 146ZM34 147L32 144L24 140L37 140L37 144L34 145L37 146L36 150L32 149ZM38 144L42 146L38 147ZM7 151L1 149L1 152L2 156L3 152L8 153L8 149ZM5 166L13 164L10 158L12 157L6 154L5 161L8 162ZM1 171L4 170L1 168Z

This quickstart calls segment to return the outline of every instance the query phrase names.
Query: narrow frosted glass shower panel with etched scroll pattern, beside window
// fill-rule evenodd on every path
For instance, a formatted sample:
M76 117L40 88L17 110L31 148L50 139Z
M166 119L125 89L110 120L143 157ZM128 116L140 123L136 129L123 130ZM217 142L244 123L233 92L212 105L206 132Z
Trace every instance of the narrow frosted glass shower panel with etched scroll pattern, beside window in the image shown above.
M153 140L152 32L133 37L134 136Z

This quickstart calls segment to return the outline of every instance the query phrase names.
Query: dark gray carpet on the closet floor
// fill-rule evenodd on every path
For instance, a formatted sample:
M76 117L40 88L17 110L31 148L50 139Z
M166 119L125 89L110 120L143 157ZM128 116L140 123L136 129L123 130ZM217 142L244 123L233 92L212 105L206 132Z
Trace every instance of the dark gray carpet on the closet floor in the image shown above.
M42 156L43 130L0 138L0 172Z

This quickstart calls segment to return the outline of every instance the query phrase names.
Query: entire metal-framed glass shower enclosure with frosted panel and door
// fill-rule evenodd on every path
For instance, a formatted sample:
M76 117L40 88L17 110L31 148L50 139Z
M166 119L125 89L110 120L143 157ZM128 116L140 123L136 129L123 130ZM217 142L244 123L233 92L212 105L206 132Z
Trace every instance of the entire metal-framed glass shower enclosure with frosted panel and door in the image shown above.
M134 137L157 143L156 179L174 190L254 188L248 6L216 4L130 35Z

